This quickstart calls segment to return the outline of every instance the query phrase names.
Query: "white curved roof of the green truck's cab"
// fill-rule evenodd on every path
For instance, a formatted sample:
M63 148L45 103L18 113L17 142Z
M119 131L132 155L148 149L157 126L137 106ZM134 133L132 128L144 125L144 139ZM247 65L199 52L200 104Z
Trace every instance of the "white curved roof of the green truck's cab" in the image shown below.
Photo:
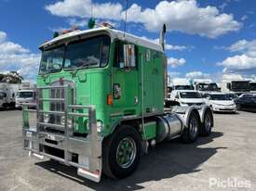
M114 30L114 29L110 29L108 27L101 27L101 28L96 28L96 29L90 29L90 30L84 30L84 31L80 31L80 30L76 30L74 32L68 32L65 34L61 34L60 36L53 38L52 40L46 42L43 45L40 45L39 48L40 49L44 49L47 48L48 46L54 45L58 42L65 42L65 41L72 41L72 39L75 36L87 36L89 34L93 34L93 33L103 33L106 32L108 33L112 38L116 38L116 39L120 39L123 41L128 41L129 43L135 44L135 45L141 45L150 49L154 49L156 51L160 51L163 52L163 48L161 45L155 44L149 40L143 39L139 36L135 36L133 34L127 33L127 32L121 32L118 30Z

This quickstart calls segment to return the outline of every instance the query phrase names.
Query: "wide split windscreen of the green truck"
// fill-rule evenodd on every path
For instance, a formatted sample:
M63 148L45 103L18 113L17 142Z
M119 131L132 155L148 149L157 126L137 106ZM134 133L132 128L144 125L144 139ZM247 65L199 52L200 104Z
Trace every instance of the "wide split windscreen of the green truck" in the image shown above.
M96 36L43 50L39 74L64 70L104 67L108 61L110 38Z

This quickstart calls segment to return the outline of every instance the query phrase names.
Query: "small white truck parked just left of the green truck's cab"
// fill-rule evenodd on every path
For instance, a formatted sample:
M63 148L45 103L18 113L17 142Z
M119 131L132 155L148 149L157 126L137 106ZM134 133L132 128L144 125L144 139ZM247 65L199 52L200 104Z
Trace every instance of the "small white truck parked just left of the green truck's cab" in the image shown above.
M21 89L15 99L15 108L22 108L24 103L35 103L36 89L32 83L21 83Z

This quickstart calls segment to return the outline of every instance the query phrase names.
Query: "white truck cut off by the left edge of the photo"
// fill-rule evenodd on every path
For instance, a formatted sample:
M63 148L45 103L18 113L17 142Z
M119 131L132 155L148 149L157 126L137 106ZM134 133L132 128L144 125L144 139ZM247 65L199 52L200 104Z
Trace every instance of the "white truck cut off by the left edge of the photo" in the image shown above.
M0 108L15 107L15 96L20 83L0 83Z

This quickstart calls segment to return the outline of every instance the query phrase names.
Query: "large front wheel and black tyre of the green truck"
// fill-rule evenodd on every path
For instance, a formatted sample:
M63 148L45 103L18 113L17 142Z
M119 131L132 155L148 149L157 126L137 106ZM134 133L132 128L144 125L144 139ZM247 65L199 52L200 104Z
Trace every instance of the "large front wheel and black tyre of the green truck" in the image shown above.
M103 173L110 178L128 177L141 159L141 134L128 125L117 127L103 143Z

